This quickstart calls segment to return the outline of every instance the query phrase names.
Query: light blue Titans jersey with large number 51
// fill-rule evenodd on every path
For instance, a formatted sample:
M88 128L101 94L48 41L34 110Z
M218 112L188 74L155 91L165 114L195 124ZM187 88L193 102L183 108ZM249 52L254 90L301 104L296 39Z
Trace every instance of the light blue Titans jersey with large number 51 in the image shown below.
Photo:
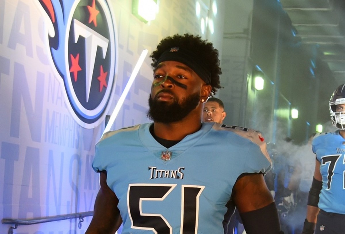
M96 145L92 167L107 171L122 233L223 234L236 179L271 167L263 137L204 123L167 149L150 134L151 124L110 131Z

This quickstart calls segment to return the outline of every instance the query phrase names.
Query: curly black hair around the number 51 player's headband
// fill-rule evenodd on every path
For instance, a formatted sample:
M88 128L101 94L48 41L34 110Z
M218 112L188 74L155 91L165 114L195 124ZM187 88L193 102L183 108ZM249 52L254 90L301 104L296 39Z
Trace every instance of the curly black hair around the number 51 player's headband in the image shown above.
M217 90L221 88L219 75L221 74L219 52L213 47L211 42L201 39L199 35L191 35L185 33L184 35L175 34L171 37L166 37L160 41L155 51L150 55L152 58L151 67L155 69L157 67L157 60L161 54L171 47L180 47L188 49L195 53L208 66L208 70L211 72L211 94L216 94Z

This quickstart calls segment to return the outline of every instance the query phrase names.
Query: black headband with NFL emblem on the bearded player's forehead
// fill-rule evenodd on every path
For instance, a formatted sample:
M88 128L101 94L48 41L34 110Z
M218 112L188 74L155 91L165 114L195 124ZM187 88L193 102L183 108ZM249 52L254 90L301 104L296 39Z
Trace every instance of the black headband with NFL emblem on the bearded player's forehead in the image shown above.
M211 71L195 53L180 47L172 47L164 51L157 60L157 65L164 61L176 61L190 67L206 84L211 84Z

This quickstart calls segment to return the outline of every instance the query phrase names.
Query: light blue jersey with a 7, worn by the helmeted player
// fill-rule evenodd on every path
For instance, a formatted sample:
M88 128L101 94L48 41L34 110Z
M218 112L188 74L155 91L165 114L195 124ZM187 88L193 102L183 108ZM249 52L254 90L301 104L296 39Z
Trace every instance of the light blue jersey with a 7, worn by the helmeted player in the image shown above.
M345 139L339 131L316 135L313 152L321 163L322 189L318 207L345 214Z

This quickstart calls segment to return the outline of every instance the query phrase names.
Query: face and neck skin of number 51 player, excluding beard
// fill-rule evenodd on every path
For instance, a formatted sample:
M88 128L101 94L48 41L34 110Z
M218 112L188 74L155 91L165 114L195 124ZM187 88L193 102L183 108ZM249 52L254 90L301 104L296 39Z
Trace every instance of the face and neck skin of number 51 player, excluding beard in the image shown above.
M187 86L187 89L176 85L170 79L165 77L169 76L177 82ZM161 82L164 81L164 82ZM155 85L160 83L160 85ZM206 85L205 81L199 78L196 73L180 62L166 61L162 62L154 71L154 81L151 88L151 98L172 103L174 101L173 95L160 92L162 89L169 89L174 92L175 98L182 100L190 94L199 93L200 103L192 110L188 116L183 120L175 123L163 124L154 123L154 132L156 136L167 140L182 140L185 136L195 133L201 128L201 111L203 109L203 102L206 101L211 92L211 86Z

